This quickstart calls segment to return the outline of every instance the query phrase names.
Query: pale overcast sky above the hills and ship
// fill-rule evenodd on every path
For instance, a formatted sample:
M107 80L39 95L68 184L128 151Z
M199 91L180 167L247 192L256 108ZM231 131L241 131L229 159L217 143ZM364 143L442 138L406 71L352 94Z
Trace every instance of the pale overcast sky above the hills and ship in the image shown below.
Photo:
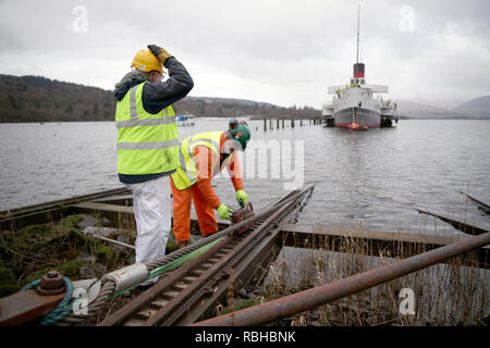
M191 96L320 109L353 74L359 3L368 84L440 107L490 95L488 0L0 0L0 73L112 89L156 44Z

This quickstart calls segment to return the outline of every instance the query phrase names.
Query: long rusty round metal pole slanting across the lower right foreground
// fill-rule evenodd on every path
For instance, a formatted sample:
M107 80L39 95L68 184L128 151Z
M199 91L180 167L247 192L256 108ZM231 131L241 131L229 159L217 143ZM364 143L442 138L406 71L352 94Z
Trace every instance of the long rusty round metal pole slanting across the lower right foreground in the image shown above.
M490 244L490 232L391 264L241 311L195 323L203 326L265 325L347 297Z

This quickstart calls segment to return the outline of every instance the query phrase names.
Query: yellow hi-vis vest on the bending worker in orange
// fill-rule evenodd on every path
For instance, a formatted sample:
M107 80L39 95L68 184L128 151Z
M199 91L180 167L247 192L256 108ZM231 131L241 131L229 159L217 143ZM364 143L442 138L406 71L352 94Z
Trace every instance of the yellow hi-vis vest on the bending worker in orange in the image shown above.
M200 163L199 165L212 165L212 177L221 171L220 166L220 139L223 132L199 133L185 138L180 148L180 161L176 172L172 174L173 185L176 189L183 190L197 183L197 163L194 158L196 146L206 146L216 156L216 163ZM229 156L223 166L226 166L233 156Z

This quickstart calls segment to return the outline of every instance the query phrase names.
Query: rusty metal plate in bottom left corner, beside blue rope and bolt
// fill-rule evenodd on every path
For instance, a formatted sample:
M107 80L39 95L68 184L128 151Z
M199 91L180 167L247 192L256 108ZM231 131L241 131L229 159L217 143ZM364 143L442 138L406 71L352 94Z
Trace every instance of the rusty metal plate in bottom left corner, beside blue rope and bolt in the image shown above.
M0 298L0 326L19 326L51 312L63 294L42 296L34 289Z

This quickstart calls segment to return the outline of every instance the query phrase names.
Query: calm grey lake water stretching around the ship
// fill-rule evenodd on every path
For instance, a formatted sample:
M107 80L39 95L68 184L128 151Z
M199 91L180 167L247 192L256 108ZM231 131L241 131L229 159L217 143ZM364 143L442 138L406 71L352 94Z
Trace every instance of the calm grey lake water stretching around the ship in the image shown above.
M180 138L226 124L198 120L181 127ZM252 151L254 162L245 152L244 185L256 210L294 182L319 181L298 223L455 233L418 214L419 207L490 228L490 219L460 194L490 202L490 121L409 120L357 133L308 122L265 133L261 121L249 124L253 139L271 148L267 156ZM120 187L115 139L112 122L0 124L0 211ZM226 175L213 184L236 207Z

